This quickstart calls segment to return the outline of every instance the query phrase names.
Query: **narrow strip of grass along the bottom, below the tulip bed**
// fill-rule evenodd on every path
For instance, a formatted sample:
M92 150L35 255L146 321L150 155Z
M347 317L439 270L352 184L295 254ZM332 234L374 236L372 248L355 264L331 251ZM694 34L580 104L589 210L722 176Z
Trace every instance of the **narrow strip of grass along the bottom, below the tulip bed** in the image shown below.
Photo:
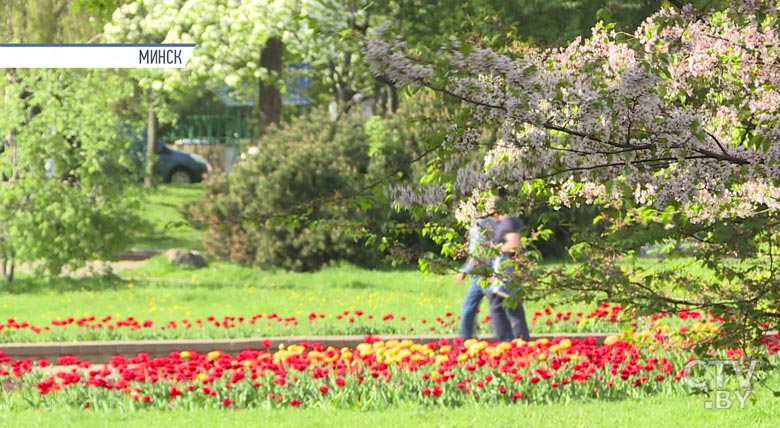
M570 402L556 405L466 406L434 408L409 406L380 411L334 409L138 411L11 411L0 413L8 427L214 427L253 426L298 428L318 426L377 428L405 427L773 427L780 408L768 393L745 409L704 408L702 396L655 396L644 400Z

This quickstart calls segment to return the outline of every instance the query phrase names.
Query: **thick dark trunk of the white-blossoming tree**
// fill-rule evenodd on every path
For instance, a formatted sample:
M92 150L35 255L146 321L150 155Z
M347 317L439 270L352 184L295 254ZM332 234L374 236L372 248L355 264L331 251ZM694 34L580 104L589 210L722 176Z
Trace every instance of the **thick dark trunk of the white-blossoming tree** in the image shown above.
M280 39L268 39L260 53L260 66L267 69L272 78L282 76L282 54L284 44ZM275 76L274 76L275 75ZM268 126L279 124L282 119L282 94L274 81L260 81L259 129L258 137L262 137Z

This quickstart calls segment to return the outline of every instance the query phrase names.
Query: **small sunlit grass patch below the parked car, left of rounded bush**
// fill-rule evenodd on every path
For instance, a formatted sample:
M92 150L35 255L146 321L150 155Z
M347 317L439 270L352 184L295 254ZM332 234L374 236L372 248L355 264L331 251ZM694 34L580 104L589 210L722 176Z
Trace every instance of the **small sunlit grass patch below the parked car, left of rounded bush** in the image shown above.
M202 193L200 184L161 185L150 191L141 212L147 232L136 236L130 247L202 250L203 232L194 229L181 213L187 203L197 200Z

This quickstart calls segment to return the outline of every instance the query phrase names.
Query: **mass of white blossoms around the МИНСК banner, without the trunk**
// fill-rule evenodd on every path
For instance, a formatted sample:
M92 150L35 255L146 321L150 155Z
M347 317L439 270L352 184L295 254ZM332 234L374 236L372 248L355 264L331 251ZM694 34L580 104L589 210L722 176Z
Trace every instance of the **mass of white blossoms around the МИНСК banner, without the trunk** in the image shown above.
M367 1L367 0L366 0ZM184 69L136 71L143 86L176 92L194 85L227 84L237 97L258 79L275 81L260 66L260 52L271 38L298 58L325 61L342 58L348 42L339 37L364 7L347 10L328 0L135 0L120 6L106 24L107 43L195 43ZM355 2L357 6L366 2ZM316 30L315 30L316 28ZM310 61L311 62L311 61Z

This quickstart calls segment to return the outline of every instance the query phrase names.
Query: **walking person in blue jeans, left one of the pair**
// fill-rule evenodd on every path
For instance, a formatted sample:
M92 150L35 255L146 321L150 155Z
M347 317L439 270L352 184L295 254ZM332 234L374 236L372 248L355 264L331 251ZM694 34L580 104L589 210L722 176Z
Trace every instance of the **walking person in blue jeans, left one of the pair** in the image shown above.
M485 290L480 282L483 276L479 275L479 270L485 270L490 267L490 259L484 256L480 257L482 248L488 245L493 236L496 227L496 220L493 218L496 214L496 199L491 197L485 203L485 216L478 218L469 228L469 258L463 265L460 272L455 276L455 283L462 284L467 274L471 274L469 288L466 290L466 297L460 309L460 327L458 336L463 340L474 337L476 329L477 312L482 298L485 297Z

